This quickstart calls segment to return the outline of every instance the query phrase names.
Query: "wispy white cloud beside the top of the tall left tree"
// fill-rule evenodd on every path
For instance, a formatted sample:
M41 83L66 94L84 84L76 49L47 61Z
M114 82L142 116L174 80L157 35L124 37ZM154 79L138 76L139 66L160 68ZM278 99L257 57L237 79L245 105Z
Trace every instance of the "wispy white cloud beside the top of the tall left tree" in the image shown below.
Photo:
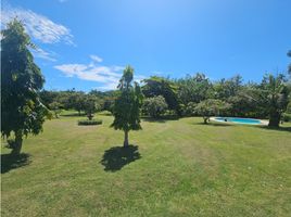
M73 35L67 27L53 23L43 15L22 8L12 8L8 3L3 3L1 12L1 27L17 16L33 38L43 43L65 42L74 44Z

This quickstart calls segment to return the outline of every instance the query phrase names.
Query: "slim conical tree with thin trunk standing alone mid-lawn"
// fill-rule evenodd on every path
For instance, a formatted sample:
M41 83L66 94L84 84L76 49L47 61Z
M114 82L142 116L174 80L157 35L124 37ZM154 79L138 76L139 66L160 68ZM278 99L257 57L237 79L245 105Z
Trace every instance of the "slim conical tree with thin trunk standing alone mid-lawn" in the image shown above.
M124 131L124 146L128 146L129 130L140 130L140 107L142 93L137 82L132 86L134 68L126 66L119 80L119 93L115 100L113 115L114 122L111 127Z

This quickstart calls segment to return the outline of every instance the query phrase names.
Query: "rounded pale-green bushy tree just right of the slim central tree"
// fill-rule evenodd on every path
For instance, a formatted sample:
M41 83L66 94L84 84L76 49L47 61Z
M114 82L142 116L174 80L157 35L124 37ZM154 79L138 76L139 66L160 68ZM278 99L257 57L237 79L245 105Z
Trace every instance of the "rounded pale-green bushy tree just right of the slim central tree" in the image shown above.
M143 101L143 111L151 117L160 117L162 114L165 113L167 103L165 101L165 98L163 98L162 95L147 98Z

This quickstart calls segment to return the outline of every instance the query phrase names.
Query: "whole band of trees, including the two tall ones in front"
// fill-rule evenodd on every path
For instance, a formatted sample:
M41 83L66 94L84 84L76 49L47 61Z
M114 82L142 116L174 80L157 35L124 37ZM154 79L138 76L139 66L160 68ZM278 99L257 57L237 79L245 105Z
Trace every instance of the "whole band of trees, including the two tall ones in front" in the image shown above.
M129 130L141 128L140 111L154 118L200 115L204 123L211 115L269 118L274 127L282 115L291 116L291 82L282 74L266 75L260 84L244 84L239 75L214 82L201 73L180 79L153 76L140 87L132 84L134 68L127 66L115 91L42 90L45 78L29 50L36 46L23 24L13 20L1 36L1 133L14 136L9 142L14 155L20 154L24 136L42 130L45 119L51 117L49 110L58 118L62 108L73 108L89 119L97 111L111 111L112 127L125 132L125 146ZM288 73L291 76L291 65Z

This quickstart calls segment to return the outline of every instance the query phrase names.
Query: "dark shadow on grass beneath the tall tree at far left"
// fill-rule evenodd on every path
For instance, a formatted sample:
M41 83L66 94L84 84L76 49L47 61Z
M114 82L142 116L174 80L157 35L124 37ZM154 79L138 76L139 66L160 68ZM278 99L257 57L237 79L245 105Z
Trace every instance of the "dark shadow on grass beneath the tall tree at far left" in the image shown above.
M25 153L22 153L18 156L1 154L1 174L5 174L11 169L16 169L30 164L29 156L29 154Z

